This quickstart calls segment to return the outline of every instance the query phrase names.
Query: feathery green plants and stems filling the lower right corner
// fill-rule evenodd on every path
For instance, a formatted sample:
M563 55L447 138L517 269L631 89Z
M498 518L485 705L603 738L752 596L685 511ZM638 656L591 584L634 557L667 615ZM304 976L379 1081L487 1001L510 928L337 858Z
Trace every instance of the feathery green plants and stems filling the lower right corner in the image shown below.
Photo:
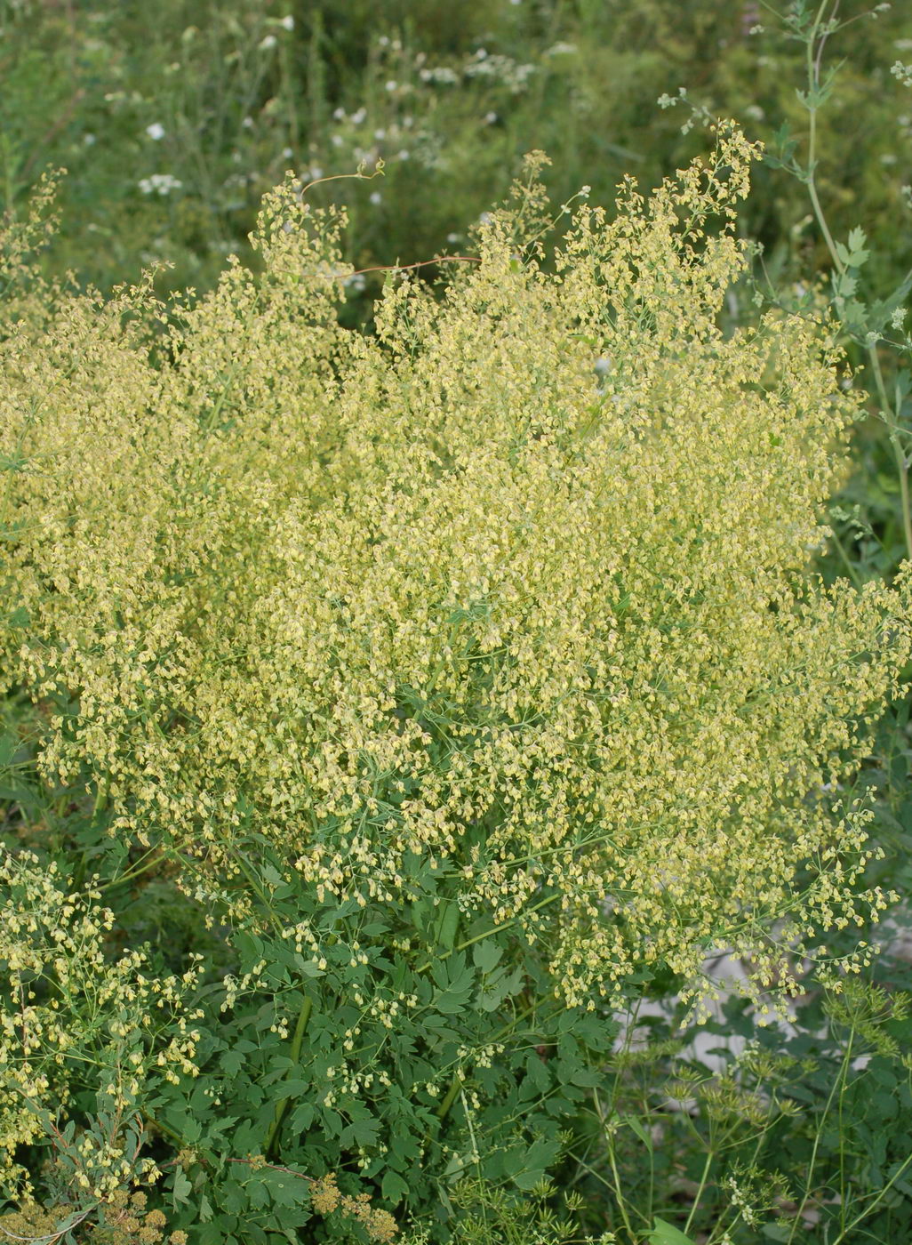
M908 1235L908 995L811 990L789 1023L760 1027L735 997L700 1027L631 1020L637 1046L618 1053L601 1104L607 1153L591 1135L575 1143L600 1155L575 1183L612 1184L618 1240L640 1241L652 1216L652 1245ZM707 1033L718 1045L699 1057Z

